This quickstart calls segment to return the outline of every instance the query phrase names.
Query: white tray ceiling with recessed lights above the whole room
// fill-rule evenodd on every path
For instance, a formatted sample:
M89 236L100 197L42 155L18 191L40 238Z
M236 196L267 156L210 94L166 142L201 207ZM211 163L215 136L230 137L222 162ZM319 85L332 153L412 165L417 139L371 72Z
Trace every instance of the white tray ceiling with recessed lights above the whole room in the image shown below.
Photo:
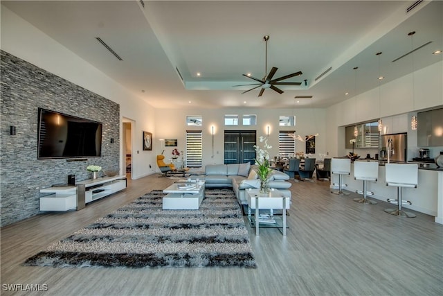
M156 108L327 107L377 87L379 72L386 83L426 67L442 60L432 52L443 49L443 1L406 13L414 2L1 1ZM243 73L264 76L264 35L268 72L302 71L284 82L303 83L257 98L260 89L233 85L255 83Z

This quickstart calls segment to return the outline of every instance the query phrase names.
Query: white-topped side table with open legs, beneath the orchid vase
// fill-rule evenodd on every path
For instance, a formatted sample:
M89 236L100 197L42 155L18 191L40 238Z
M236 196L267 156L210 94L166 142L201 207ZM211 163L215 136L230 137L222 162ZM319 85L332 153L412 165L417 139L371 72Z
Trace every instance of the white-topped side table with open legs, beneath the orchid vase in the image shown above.
M246 189L246 198L248 199L248 218L251 219L251 209L255 209L255 235L259 235L260 224L266 223L266 221L260 222L259 209L282 209L282 234L286 236L286 210L290 207L290 198L285 198L284 194L277 189L269 191L269 193L260 193L259 189ZM275 222L276 228L278 227Z

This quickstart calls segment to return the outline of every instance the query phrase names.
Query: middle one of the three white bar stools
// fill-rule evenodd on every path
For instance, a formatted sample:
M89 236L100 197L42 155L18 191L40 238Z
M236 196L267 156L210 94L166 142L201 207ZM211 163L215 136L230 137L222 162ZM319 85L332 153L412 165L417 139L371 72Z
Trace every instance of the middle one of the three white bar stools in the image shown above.
M366 182L377 182L379 177L379 163L378 162L354 162L354 179L363 180L363 190L357 190L356 193L363 194L363 198L354 198L354 202L362 204L377 204L373 200L368 200L367 195L374 195L372 191L366 190Z

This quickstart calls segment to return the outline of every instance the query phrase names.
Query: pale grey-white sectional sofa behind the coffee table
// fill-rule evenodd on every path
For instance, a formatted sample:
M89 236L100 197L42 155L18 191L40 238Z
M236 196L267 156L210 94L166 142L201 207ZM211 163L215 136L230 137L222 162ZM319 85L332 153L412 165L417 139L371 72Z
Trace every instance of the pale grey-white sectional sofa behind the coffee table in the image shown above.
M206 188L230 187L235 191L239 204L248 204L245 189L260 188L260 180L251 164L208 164L204 175L193 175L192 179L206 181ZM271 189L282 191L284 196L291 198L289 175L273 170L271 172Z

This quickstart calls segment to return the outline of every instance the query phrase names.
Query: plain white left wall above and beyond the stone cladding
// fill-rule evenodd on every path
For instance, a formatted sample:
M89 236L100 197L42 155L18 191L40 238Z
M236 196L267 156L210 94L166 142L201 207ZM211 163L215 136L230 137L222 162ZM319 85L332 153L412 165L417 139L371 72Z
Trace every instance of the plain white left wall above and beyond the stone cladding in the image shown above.
M1 49L120 104L120 135L123 134L123 117L135 121L133 135L139 135L133 137L132 143L134 168L132 178L137 179L153 173L147 164L155 164L156 155L154 151L143 151L142 131L155 129L154 108L143 99L129 92L5 6L1 6ZM122 151L123 141L120 137L120 155ZM120 161L120 172L125 173L125 164L122 161Z

